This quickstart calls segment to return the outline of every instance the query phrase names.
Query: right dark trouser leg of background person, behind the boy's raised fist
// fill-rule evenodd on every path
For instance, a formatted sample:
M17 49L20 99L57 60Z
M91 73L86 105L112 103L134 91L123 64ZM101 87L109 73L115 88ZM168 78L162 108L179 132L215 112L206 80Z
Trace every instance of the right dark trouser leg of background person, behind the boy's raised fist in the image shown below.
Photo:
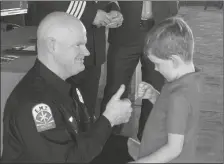
M142 81L151 84L156 90L161 91L164 85L164 77L154 69L154 64L145 56L141 56ZM139 118L139 128L137 137L141 141L145 123L153 108L153 104L146 99L142 100L141 114Z

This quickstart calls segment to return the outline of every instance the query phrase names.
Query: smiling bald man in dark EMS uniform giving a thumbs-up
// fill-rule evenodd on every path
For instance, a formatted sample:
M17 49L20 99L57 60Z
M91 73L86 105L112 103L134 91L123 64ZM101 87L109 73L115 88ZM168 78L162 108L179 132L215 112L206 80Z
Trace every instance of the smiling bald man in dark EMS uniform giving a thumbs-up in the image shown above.
M86 42L74 16L54 12L40 23L37 60L5 106L3 162L87 163L100 154L111 128L128 122L131 103L120 100L124 85L92 123L78 88L65 82L85 69Z

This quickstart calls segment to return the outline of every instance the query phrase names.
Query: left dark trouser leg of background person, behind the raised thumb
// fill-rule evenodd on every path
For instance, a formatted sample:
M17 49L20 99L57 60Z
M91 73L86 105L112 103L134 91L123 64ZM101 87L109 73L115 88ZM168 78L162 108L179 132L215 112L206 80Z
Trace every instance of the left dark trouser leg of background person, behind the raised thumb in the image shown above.
M134 51L135 47L109 47L107 55L107 80L101 103L101 114L121 84L124 84L126 87L122 98L128 97L127 89L140 57L140 54L133 53ZM119 134L122 130L122 126L119 127L117 126L116 130L114 129L116 134Z

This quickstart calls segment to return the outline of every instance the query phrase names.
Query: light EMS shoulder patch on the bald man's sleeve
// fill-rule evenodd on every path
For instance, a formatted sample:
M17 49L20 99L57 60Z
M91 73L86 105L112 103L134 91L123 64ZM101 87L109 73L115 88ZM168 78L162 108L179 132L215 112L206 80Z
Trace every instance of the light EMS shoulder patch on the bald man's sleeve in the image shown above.
M32 115L38 132L56 128L51 108L47 104L35 105Z

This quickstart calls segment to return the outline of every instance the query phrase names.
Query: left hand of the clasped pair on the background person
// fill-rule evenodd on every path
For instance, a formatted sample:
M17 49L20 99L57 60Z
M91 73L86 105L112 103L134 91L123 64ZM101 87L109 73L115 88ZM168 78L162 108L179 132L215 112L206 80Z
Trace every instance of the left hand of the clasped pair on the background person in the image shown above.
M107 24L110 23L111 21L108 14L103 10L98 10L96 13L96 17L93 21L93 24L96 25L97 27L100 27L100 26L106 26Z

